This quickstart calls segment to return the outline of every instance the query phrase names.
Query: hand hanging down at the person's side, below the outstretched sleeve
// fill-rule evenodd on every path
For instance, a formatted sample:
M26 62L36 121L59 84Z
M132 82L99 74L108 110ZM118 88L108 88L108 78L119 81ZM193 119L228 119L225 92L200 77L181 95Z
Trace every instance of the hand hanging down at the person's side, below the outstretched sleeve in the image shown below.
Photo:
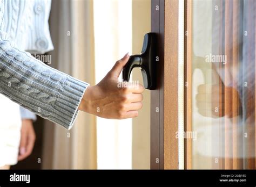
M33 129L33 123L30 119L22 120L21 143L19 145L18 161L24 160L33 150L36 140L36 134Z

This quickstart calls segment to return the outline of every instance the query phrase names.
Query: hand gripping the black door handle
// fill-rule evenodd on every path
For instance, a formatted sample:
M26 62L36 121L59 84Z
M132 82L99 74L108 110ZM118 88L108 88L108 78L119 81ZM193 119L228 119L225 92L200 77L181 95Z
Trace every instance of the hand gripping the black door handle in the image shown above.
M142 108L144 87L141 84L120 88L118 77L129 60L126 54L95 86L86 89L79 110L102 118L125 119L138 116Z

